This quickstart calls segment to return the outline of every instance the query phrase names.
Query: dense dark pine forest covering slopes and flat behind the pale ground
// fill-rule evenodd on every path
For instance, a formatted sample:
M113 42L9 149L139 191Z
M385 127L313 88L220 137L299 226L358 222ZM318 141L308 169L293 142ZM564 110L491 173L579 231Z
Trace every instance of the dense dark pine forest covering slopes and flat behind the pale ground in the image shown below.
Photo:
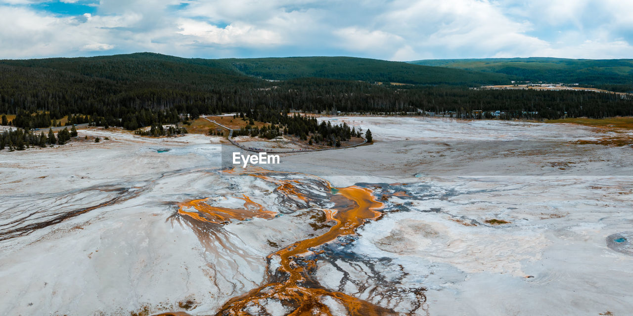
M274 117L260 116L290 110L432 112L467 118L501 111L498 117L505 119L633 115L633 99L617 94L475 90L470 87L503 83L508 77L360 58L332 59L330 64L327 60L200 60L151 53L4 60L0 61L0 113L16 115L6 123L25 129L60 125L67 118L68 123L128 130L176 123L182 115L250 111L255 111L256 120L275 124L280 122ZM277 72L287 73L284 78L289 79L259 78ZM387 82L377 84L381 80ZM392 85L390 80L415 84Z

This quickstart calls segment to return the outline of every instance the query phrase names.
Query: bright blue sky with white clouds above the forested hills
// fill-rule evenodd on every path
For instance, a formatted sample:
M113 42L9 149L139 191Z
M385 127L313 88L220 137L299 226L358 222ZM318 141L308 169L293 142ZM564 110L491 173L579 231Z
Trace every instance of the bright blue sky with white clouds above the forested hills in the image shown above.
M632 0L0 0L0 59L633 58Z

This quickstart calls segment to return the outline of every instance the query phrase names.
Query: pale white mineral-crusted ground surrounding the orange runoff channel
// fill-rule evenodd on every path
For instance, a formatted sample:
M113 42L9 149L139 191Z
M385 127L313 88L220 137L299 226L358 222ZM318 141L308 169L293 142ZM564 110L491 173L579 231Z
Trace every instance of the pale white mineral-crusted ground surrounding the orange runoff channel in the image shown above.
M598 137L575 125L334 119L370 128L375 144L282 155L274 168L321 175L334 186L406 184L394 187L416 198L390 198L389 206L404 208L363 226L351 249L391 258L401 269L393 273L404 276L399 288L426 288L425 310L417 314L633 310L633 256L605 242L632 230L632 148L570 144ZM189 313L213 314L263 281L265 256L279 249L268 241L286 246L315 233L302 211L234 222L203 244L191 227L170 218L176 203L216 197L218 205L232 206L233 197L246 194L269 210L285 209L263 180L215 172L221 146L229 145L199 135L79 134L111 140L0 151L0 229L28 213L93 206L117 194L128 199L0 241L0 315L157 313L182 310L178 302L187 299L196 302ZM171 150L156 152L162 148ZM382 193L389 192L377 189ZM493 218L510 224L485 223ZM470 222L477 225L464 225ZM374 282L368 269L338 263L360 283L320 261L321 284L402 312L416 300L385 302L375 294L384 289L372 287L359 293L356 284ZM344 311L334 300L324 303ZM267 306L284 311L274 301Z

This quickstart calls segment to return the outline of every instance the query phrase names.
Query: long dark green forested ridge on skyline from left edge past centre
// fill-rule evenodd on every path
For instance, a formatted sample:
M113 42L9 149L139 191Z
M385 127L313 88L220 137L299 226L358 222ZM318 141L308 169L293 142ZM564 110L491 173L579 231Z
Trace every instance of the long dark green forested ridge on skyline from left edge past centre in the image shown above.
M288 80L318 77L403 84L479 85L505 84L508 76L444 67L411 65L397 61L353 57L290 57L206 60L154 53L135 53L89 58L2 60L0 65L48 68L109 80L184 82L199 84L210 76L229 80L256 77Z

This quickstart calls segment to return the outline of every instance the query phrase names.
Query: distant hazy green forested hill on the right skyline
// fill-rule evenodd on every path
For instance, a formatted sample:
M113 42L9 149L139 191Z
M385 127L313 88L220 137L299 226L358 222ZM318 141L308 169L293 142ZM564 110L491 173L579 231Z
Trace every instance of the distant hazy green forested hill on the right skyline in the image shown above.
M633 60L530 57L417 60L410 63L500 73L511 76L513 80L595 85L620 92L630 92L633 89Z

